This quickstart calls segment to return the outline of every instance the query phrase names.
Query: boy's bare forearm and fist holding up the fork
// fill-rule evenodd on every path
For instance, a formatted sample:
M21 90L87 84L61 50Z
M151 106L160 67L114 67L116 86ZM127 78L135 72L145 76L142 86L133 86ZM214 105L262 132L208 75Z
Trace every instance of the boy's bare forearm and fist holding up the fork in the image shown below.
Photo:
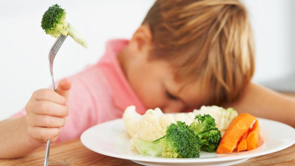
M56 92L40 89L33 93L26 105L27 115L0 122L0 158L16 158L29 154L44 145L47 139L54 142L60 127L69 114L69 80L62 80Z

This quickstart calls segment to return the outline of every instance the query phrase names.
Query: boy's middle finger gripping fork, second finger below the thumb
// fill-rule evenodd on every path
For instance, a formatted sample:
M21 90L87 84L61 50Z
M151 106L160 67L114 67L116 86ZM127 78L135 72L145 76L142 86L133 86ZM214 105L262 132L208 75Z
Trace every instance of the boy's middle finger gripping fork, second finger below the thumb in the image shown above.
M59 117L68 116L70 113L68 106L59 105L50 101L35 102L31 111L39 115L52 115Z

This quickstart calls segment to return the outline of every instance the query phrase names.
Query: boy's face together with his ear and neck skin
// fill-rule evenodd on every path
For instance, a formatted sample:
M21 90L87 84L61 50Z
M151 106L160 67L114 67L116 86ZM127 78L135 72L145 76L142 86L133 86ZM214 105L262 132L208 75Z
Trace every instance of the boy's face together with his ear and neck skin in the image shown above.
M150 39L149 29L141 26L118 55L127 79L147 108L159 107L168 113L207 104L200 93L199 82L176 82L167 61L148 60Z

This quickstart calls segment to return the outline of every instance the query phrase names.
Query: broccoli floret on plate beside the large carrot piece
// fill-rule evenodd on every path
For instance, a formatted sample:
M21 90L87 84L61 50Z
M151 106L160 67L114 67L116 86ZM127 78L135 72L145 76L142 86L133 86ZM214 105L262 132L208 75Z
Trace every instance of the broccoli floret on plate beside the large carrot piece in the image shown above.
M207 152L215 152L219 145L221 134L218 128L216 128L215 119L209 114L196 115L198 121L194 121L190 124L190 129L199 136L201 141L200 149Z

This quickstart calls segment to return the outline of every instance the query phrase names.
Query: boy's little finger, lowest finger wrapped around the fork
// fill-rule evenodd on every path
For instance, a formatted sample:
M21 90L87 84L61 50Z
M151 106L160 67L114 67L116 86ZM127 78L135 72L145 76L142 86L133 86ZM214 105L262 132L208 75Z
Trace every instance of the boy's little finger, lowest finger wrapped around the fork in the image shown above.
M57 137L60 133L60 128L30 127L28 132L32 139L43 141Z

